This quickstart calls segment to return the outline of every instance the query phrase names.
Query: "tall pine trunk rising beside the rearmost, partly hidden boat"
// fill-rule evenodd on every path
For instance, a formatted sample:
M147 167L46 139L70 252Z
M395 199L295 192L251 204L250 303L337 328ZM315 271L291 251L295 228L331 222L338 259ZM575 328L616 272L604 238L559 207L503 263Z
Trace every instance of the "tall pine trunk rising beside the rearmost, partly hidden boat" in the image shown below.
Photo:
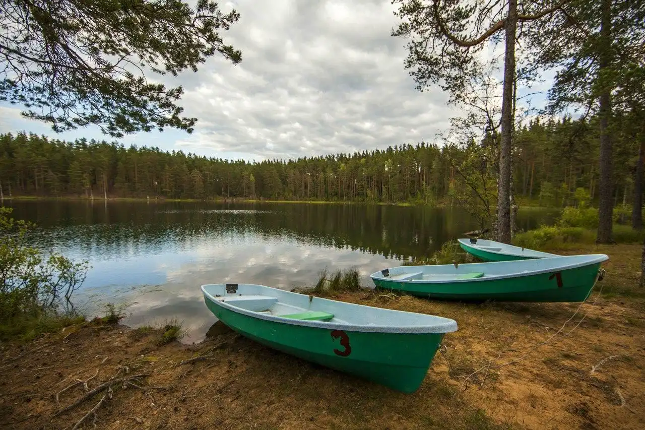
M513 138L513 83L515 81L515 30L517 0L508 1L506 55L504 56L504 88L502 90L502 145L499 154L497 183L497 240L511 243L511 144Z

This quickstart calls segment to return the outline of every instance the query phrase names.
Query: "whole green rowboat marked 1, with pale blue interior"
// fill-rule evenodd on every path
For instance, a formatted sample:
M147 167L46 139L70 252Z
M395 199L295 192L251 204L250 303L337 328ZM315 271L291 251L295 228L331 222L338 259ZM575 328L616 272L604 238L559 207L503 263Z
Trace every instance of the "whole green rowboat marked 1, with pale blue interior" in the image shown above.
M400 266L370 275L378 288L446 300L584 302L605 254Z

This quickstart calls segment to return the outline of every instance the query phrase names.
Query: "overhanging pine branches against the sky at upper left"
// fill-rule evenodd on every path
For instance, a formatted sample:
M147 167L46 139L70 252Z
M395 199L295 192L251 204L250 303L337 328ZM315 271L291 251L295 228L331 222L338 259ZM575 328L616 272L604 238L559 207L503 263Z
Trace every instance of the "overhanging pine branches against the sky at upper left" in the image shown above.
M198 0L3 1L0 100L24 105L28 118L56 132L95 124L121 137L175 127L192 132L175 102L183 88L152 83L144 70L173 76L217 53L237 64L241 52L219 32L239 19Z

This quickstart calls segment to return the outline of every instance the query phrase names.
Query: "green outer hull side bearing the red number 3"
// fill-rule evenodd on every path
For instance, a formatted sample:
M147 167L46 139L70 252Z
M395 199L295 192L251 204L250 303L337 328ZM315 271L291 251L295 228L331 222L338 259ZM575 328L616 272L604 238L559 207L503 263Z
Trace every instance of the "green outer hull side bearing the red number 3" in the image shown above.
M204 302L239 334L283 353L413 393L424 380L444 333L339 331L252 318Z

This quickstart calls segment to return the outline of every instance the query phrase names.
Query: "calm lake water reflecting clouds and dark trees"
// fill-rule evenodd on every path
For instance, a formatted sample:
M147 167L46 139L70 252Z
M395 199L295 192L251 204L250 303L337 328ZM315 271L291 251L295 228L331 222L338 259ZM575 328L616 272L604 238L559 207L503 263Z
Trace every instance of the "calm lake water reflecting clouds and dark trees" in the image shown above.
M75 302L89 314L106 302L128 303L136 327L183 321L202 340L215 322L199 286L260 283L313 285L323 269L356 267L368 275L432 254L476 228L462 210L308 203L157 203L5 201L14 218L37 223L45 251L92 266ZM521 229L551 223L553 211L526 210Z

